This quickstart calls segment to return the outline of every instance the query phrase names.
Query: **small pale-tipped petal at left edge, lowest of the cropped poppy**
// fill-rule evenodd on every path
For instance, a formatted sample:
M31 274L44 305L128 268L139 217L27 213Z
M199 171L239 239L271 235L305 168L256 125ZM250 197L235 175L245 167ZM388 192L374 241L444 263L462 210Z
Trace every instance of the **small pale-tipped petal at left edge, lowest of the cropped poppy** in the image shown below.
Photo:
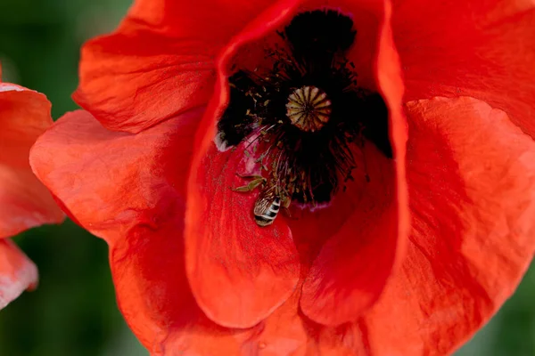
M9 239L0 239L0 309L37 286L37 267Z

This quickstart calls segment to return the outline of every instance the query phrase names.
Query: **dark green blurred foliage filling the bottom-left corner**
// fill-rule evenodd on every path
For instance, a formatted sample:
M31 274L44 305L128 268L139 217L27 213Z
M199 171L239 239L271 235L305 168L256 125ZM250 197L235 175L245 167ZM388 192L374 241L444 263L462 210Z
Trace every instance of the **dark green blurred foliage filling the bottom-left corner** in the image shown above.
M0 312L0 355L103 355L126 328L106 244L70 221L16 241L39 267L40 285Z

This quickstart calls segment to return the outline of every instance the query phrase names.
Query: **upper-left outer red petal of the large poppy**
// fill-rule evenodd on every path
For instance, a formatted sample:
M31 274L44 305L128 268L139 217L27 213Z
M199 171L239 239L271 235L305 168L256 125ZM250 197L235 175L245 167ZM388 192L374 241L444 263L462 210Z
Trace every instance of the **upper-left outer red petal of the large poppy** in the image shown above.
M270 0L138 0L82 50L75 101L111 130L138 133L205 104L213 59Z

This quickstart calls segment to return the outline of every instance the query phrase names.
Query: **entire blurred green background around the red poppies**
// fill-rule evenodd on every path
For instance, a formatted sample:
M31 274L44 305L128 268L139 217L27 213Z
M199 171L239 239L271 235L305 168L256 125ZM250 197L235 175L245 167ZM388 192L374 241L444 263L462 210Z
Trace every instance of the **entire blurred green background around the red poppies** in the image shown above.
M53 118L76 109L78 52L114 28L129 0L0 0L4 81L45 93ZM40 286L0 312L0 356L137 356L147 352L117 309L105 243L70 221L16 242L37 263ZM459 356L535 355L535 269ZM410 355L407 355L410 356Z

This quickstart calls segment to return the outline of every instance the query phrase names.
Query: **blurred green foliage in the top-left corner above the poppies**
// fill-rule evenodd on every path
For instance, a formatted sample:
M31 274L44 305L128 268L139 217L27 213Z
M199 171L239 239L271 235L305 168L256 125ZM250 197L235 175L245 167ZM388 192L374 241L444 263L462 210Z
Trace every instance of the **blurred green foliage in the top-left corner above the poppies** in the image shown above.
M110 31L129 0L2 0L0 61L4 81L45 93L53 117L77 109L70 94L78 83L79 48Z

